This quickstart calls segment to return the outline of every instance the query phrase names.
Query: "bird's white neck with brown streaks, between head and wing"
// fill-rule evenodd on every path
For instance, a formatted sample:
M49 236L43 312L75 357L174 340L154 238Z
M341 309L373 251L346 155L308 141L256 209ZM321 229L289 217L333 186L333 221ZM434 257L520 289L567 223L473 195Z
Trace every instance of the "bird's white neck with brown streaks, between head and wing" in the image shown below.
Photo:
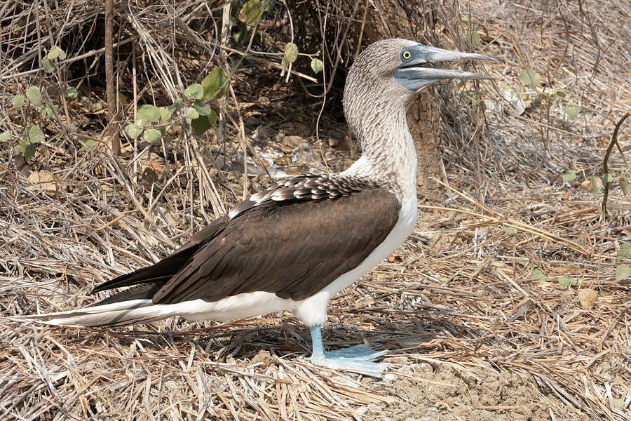
M347 171L393 185L402 196L416 201L416 150L405 111L397 107L348 119L362 146L362 157Z

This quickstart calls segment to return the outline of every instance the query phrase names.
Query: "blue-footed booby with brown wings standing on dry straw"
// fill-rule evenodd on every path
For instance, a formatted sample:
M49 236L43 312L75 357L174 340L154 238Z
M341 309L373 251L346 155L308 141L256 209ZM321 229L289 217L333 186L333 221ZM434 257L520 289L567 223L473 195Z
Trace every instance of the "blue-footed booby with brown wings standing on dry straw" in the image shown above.
M182 316L227 321L290 310L311 330L311 362L379 376L364 345L325 352L330 298L379 264L414 229L416 152L409 102L443 79L493 79L433 67L493 60L405 39L376 42L346 79L344 114L362 156L346 171L301 175L250 196L155 265L94 288L121 290L83 309L28 316L62 326L123 326Z

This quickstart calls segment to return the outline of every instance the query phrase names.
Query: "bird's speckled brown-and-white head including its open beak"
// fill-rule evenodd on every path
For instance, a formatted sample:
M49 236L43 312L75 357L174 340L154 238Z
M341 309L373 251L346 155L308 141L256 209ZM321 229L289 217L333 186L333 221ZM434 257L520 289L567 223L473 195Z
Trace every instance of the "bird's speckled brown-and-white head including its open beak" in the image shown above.
M344 112L351 128L354 117L366 117L367 109L393 112L407 107L423 86L444 79L494 79L492 76L435 67L454 60L491 60L487 55L460 53L419 44L407 39L385 39L365 48L348 72L344 88Z

